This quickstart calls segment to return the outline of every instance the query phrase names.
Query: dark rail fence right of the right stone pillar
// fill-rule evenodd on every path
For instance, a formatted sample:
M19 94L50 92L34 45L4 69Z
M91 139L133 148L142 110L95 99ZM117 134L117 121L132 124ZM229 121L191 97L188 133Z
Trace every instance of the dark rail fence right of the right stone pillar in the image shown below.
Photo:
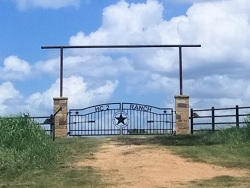
M190 109L190 129L194 131L211 130L235 126L239 128L245 124L250 114L250 107Z

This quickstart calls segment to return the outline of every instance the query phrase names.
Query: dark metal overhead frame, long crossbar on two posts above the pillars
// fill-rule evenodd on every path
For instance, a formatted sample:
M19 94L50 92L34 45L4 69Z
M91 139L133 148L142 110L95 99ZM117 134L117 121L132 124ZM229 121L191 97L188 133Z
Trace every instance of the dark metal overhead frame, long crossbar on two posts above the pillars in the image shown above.
M60 97L63 96L63 49L93 49L93 48L179 48L179 78L180 95L183 95L182 88L182 48L201 47L200 44L155 44L155 45L84 45L84 46L42 46L41 49L60 49Z

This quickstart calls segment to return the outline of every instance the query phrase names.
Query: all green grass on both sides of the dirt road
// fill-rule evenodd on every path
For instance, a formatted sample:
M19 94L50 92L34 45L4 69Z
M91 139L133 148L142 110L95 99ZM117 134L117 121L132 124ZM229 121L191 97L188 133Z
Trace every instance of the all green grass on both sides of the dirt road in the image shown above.
M65 138L52 142L27 119L0 120L0 187L108 187L101 172L72 166L93 159L102 144L163 146L192 161L250 170L250 125L187 136L134 136L112 138ZM39 134L38 134L39 133ZM8 134L8 135L7 135ZM250 187L250 176L220 176L190 182L188 187Z

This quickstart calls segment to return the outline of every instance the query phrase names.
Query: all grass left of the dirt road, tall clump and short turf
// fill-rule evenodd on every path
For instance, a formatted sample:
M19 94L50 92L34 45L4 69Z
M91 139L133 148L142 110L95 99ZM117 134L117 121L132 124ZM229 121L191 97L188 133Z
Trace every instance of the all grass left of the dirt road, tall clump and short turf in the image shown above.
M0 187L105 187L100 171L77 167L103 140L51 136L28 116L0 118Z

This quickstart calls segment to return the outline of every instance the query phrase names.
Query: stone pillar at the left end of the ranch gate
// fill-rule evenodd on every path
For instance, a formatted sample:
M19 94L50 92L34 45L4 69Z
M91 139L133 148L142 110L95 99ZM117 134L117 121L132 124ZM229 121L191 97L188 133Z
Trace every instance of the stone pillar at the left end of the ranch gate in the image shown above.
M60 97L54 98L54 113L62 108L55 116L55 137L67 136L67 112L68 112L68 98Z

